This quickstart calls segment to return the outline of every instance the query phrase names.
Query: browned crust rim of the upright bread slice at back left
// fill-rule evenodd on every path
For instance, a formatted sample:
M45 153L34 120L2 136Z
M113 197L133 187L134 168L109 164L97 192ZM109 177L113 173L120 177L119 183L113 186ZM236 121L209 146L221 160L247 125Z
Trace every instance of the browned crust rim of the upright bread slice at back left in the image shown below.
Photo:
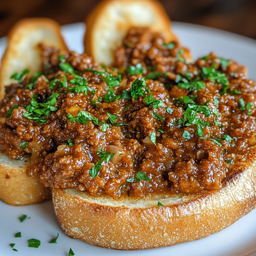
M4 93L5 93L4 86L6 86L6 84L4 84L4 80L5 80L6 70L9 69L8 64L10 62L10 59L13 57L13 54L15 54L15 46L17 44L17 41L14 41L13 39L15 38L16 33L21 29L26 29L26 27L29 27L29 29L31 29L31 27L38 27L40 25L48 26L53 31L55 31L60 41L59 49L63 51L68 51L68 48L60 32L60 25L55 20L50 18L25 18L25 19L19 20L12 27L12 29L7 35L8 45L2 57L1 68L0 68L0 99L4 97Z

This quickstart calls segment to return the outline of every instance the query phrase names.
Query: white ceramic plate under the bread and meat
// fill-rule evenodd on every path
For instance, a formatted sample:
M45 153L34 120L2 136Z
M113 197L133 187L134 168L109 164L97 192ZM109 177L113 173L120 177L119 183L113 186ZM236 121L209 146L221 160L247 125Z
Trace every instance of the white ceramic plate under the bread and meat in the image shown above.
M84 30L82 23L63 26L63 35L70 49L83 52ZM246 65L249 77L256 80L256 41L185 23L173 22L173 30L179 35L183 45L191 49L194 59L214 51L220 57L231 58ZM0 39L0 57L5 46L6 39ZM23 214L31 218L21 223L19 217ZM17 232L22 232L22 238L14 237ZM57 236L57 232L58 243L49 244ZM39 248L28 247L27 240L31 238L41 241ZM12 250L10 243L15 243L14 248L18 252ZM164 248L117 251L99 248L66 236L58 224L51 201L18 207L0 201L0 256L67 256L70 247L75 256L253 256L256 255L256 209L230 227L200 240Z

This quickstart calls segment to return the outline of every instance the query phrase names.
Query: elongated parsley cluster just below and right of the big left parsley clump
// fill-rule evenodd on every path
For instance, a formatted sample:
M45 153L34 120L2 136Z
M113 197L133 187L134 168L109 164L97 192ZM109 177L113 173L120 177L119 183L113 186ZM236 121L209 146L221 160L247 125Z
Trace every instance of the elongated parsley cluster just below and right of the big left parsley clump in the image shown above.
M81 124L88 124L88 122L91 120L96 125L102 125L101 131L106 131L106 129L110 128L111 126L104 122L99 122L99 119L97 117L91 116L90 113L86 111L78 111L77 116L73 117L70 113L67 114L67 117L70 122L79 122Z

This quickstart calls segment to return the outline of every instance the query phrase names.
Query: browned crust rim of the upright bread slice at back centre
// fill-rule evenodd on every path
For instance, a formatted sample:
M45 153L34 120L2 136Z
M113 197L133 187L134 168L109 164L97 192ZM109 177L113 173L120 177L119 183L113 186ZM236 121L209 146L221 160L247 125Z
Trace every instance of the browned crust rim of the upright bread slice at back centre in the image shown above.
M104 0L101 1L96 8L90 12L89 16L85 19L85 25L86 25L86 32L85 32L85 37L84 37L84 50L85 53L87 53L90 56L94 57L94 41L93 41L93 30L95 27L95 22L96 18L98 16L101 16L101 12L104 11L105 6L111 4L111 2L115 2L119 0ZM126 0L122 0L126 1ZM171 20L167 13L165 12L165 9L161 5L160 2L155 1L155 0L141 0L141 1L146 1L148 4L151 4L154 6L154 9L156 13L159 14L159 16L162 17L163 20L165 20L165 30L166 30L166 40L168 42L170 41L177 41L177 37L170 31L171 29Z

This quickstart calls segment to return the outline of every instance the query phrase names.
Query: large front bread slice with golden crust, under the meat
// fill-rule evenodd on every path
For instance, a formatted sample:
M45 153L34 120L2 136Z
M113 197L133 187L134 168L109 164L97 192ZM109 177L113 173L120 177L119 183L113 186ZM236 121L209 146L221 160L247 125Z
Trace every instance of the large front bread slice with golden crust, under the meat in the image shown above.
M256 153L220 190L169 198L113 200L53 189L54 209L71 237L118 250L169 246L209 236L256 206ZM158 207L157 201L164 204Z

